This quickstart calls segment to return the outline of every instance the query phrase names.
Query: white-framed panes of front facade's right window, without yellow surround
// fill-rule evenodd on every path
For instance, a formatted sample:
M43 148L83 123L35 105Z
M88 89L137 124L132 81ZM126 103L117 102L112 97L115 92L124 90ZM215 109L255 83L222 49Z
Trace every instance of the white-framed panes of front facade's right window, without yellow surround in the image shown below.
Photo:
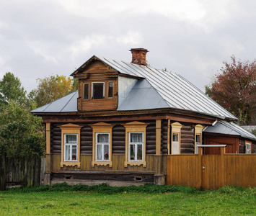
M129 132L129 161L143 161L143 132Z

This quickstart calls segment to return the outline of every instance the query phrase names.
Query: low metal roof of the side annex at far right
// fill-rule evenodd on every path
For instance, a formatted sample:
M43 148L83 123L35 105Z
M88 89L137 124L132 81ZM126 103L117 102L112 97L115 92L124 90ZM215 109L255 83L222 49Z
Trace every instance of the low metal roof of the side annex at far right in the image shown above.
M203 132L218 133L223 135L237 135L242 138L256 140L255 135L244 130L241 126L234 122L218 121L215 125L206 127Z

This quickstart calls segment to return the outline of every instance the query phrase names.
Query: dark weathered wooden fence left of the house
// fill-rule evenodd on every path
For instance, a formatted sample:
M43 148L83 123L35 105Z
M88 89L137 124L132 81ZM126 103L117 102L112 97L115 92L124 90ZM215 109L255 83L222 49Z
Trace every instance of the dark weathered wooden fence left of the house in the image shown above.
M41 182L41 158L6 158L0 160L0 190L6 186L36 186Z

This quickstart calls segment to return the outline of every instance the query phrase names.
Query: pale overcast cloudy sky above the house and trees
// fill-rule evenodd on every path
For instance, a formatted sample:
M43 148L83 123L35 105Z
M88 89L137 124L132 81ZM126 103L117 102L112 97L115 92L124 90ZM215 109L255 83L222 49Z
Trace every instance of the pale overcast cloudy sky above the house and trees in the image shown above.
M255 0L0 0L0 79L12 72L29 93L93 55L131 62L131 48L146 48L151 67L205 91L231 55L256 59L255 9Z

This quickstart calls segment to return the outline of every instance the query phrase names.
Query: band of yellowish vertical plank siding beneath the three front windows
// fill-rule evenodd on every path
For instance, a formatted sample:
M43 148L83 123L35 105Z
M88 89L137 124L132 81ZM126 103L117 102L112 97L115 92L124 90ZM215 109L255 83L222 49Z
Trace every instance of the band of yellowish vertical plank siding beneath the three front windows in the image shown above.
M92 155L81 154L81 168L76 166L63 166L61 168L61 154L51 155L51 171L141 171L141 172L154 172L154 156L146 156L146 167L141 166L129 166L124 167L125 155L124 154L112 154L112 167L109 166L97 166L92 167Z

